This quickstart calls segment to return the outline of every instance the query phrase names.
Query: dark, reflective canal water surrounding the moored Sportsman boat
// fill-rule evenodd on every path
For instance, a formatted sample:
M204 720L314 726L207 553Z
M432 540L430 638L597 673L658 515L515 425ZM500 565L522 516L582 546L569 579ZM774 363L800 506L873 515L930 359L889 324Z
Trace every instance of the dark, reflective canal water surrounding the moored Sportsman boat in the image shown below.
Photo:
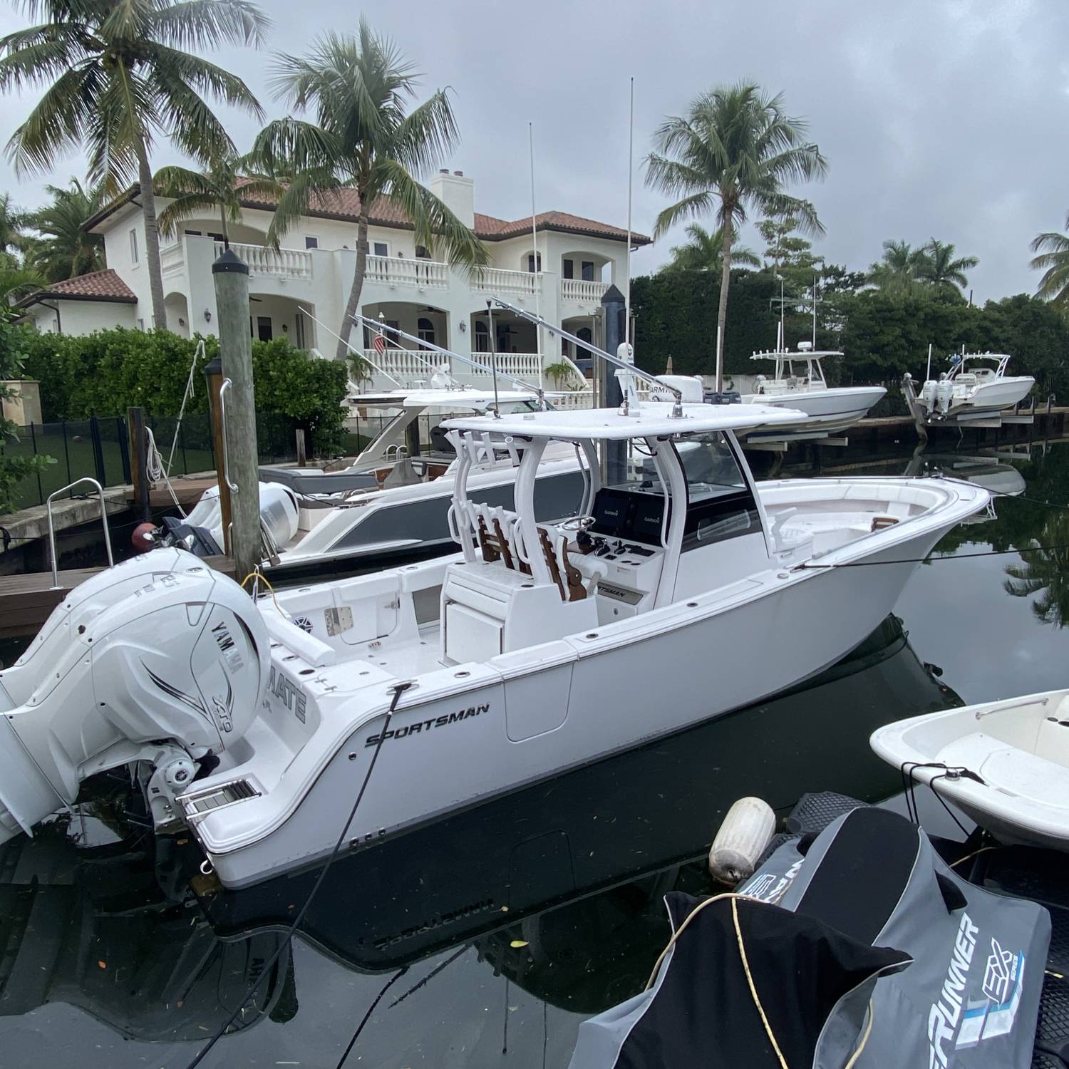
M927 465L1069 502L1069 445L1017 452L828 450L823 470ZM877 726L1065 685L1069 551L1017 551L1069 545L1069 512L1014 498L996 511L951 532L895 615L805 687L339 862L304 936L203 1064L332 1067L392 980L347 1066L566 1066L579 1022L644 986L667 935L661 896L709 889L704 853L734 799L786 810L806 790L886 797L898 776L868 749ZM1011 552L964 556L992 548ZM774 655L755 639L730 670ZM679 670L716 685L712 656ZM114 840L111 810L96 811L103 822L0 851L4 1067L182 1069L308 893L294 878L198 899L181 846L74 846Z

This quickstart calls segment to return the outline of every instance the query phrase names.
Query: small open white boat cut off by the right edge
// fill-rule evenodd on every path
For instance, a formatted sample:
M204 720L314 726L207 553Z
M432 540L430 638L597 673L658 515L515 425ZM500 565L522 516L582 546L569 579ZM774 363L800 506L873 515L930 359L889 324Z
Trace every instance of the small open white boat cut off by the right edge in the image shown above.
M913 716L870 744L1002 842L1069 851L1069 691Z

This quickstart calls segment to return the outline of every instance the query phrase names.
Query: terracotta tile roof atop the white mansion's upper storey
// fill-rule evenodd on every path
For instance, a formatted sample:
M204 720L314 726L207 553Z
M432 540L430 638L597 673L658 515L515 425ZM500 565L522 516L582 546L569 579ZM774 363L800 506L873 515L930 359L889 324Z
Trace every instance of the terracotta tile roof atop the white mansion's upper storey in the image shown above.
M97 223L103 222L114 210L137 196L138 186L123 193L122 197L112 201L103 212L99 212L86 223L87 230L92 230ZM277 200L269 197L248 197L242 198L245 207L261 208L273 212L277 205ZM339 219L343 222L356 222L359 217L360 199L355 189L335 189L328 193L316 193L309 205L308 214L313 217L324 219ZM371 205L369 219L372 226L394 227L402 230L410 230L412 223L407 216L394 204L389 197L381 197ZM568 212L540 212L536 217L539 230L556 230L564 233L588 234L591 237L607 237L609 241L625 242L628 232L620 227L611 227L607 222L599 222L597 219L585 219L579 215L570 215ZM492 215L483 215L481 212L475 213L475 227L472 228L478 237L485 242L503 242L510 237L520 237L531 229L531 218L498 219ZM645 234L632 233L631 239L635 245L649 245L650 238Z

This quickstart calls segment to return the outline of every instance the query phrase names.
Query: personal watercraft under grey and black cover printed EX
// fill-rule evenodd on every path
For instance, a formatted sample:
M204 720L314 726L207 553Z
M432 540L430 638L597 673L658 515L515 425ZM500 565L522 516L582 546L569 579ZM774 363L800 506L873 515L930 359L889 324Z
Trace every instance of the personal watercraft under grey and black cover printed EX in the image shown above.
M706 901L668 896L653 982L580 1026L572 1069L1032 1062L1047 911L965 882L902 817L854 809Z

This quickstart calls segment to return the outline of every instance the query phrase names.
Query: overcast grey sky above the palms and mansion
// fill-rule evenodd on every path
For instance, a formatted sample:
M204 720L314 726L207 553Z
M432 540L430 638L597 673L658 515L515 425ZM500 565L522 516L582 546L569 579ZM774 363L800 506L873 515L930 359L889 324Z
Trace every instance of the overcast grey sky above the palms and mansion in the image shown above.
M425 72L450 86L463 141L447 162L476 180L476 207L530 211L527 124L534 124L536 203L623 226L628 204L628 88L635 78L634 228L649 233L665 200L645 188L641 159L664 115L719 82L756 80L805 117L831 164L804 189L827 235L818 251L862 269L881 242L930 236L980 258L977 299L1032 292L1028 242L1058 230L1069 210L1069 7L1064 0L265 0L275 26L264 52L214 59L241 74L270 115L270 52L304 49L365 13ZM11 10L0 32L26 25ZM33 99L5 102L10 136ZM241 149L258 124L227 113ZM167 144L154 162L177 159ZM0 189L32 206L47 181L80 159ZM800 190L803 191L803 190ZM760 239L745 233L747 244ZM635 257L663 263L680 235Z

